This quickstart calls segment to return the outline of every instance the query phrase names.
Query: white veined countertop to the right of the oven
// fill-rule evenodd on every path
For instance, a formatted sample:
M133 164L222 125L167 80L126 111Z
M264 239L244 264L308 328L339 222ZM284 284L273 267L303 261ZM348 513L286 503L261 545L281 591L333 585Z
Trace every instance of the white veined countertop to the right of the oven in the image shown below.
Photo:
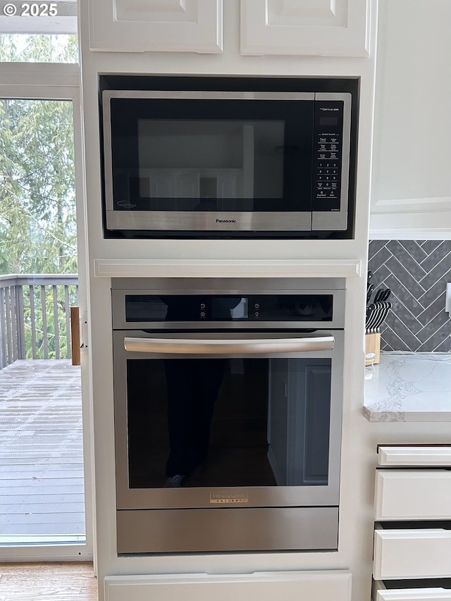
M451 421L451 353L381 352L365 368L369 421Z

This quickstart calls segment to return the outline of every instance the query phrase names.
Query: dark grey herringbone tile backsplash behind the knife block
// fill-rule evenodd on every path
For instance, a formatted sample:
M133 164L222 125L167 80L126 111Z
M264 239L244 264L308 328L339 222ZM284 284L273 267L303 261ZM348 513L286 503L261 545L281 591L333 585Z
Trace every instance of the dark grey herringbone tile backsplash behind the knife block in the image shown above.
M376 290L392 290L381 349L451 352L451 319L445 312L451 240L371 240L369 270Z

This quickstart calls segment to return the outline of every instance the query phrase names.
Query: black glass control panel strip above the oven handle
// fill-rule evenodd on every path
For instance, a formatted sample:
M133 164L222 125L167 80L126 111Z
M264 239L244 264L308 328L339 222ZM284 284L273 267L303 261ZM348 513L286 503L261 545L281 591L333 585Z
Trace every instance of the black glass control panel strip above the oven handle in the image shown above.
M125 295L127 323L161 321L326 321L333 295Z

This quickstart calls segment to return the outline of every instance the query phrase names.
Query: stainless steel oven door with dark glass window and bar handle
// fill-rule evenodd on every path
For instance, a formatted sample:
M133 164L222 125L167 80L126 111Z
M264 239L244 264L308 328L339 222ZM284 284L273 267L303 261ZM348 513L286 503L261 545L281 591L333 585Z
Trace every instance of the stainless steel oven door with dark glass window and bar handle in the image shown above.
M342 347L342 330L116 330L118 509L338 506Z

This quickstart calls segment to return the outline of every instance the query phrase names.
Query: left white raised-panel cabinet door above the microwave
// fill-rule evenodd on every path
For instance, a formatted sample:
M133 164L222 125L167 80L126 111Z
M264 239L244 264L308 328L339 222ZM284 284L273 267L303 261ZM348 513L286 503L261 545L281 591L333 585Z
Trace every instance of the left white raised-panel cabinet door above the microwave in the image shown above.
M222 0L89 0L89 47L220 53Z

